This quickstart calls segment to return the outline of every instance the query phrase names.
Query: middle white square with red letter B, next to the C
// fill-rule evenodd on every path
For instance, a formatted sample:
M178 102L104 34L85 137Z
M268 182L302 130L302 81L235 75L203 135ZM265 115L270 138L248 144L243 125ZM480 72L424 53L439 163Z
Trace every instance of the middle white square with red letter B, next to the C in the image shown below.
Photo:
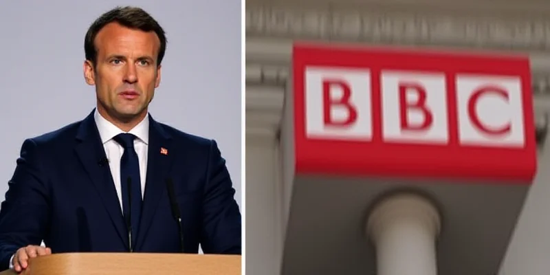
M380 85L386 142L448 142L444 74L383 71Z

